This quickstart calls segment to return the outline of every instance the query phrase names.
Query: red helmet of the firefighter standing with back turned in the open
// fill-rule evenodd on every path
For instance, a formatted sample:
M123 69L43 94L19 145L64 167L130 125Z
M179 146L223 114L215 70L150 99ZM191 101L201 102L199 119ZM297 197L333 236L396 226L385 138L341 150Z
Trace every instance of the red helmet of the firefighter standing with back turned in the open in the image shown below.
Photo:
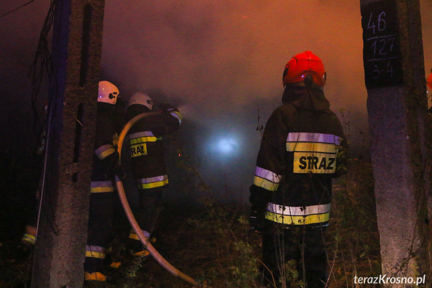
M325 85L324 65L318 56L304 51L292 57L285 65L282 82L283 86L315 84L322 88Z

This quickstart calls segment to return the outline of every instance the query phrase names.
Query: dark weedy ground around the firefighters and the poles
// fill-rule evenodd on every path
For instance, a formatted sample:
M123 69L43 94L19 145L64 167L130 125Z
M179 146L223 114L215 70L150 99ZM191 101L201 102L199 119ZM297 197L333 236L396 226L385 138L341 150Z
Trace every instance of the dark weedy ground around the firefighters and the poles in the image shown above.
M325 235L331 288L352 287L353 275L380 274L370 165L356 165L346 178L339 180L333 188L330 226ZM260 235L249 229L248 208L211 199L201 199L198 205L184 205L179 209L178 203L164 203L153 243L160 254L196 282L210 287L262 287L258 273ZM191 287L162 268L153 257L130 257L122 244L126 237L122 231L128 230L128 225L119 221L116 227L113 247L123 264L116 269L107 268L106 283L86 283L86 288ZM30 287L32 252L17 248L23 227L1 228L0 287Z

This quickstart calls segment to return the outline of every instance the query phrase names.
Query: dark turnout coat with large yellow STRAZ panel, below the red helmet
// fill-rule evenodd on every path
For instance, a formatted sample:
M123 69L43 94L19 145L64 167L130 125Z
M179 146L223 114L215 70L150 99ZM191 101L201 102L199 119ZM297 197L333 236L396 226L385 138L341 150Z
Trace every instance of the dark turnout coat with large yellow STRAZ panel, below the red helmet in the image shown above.
M251 209L267 223L325 226L332 178L346 172L342 125L320 89L286 86L282 102L263 132Z

